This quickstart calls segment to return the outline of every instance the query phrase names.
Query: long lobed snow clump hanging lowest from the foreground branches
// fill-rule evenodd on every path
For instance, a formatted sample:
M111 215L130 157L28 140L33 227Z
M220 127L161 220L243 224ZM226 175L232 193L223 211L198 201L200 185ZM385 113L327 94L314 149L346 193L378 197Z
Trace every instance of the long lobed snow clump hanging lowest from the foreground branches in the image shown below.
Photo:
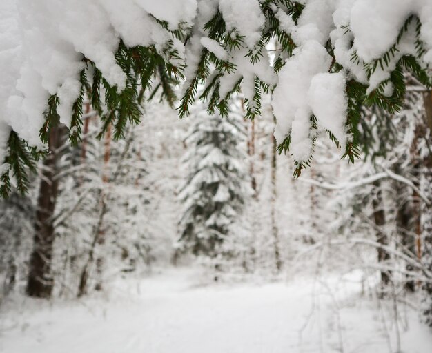
M342 74L328 79L325 75L331 57L324 46L334 26L334 10L326 0L311 0L302 11L297 26L284 25L291 28L298 47L282 68L273 94L273 112L277 118L275 138L282 143L291 134L290 151L298 162L308 161L313 153L315 132L311 132L311 115L314 113L320 115L320 123L337 129L332 132L342 145L346 139L342 128L346 120L345 79ZM333 97L332 93L336 95Z

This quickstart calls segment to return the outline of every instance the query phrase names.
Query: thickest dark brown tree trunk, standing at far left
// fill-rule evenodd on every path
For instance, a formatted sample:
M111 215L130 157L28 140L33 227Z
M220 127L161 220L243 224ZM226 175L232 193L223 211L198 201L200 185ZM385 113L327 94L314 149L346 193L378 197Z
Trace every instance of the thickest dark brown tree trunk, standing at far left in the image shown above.
M43 161L42 177L37 198L35 233L30 255L26 292L28 296L49 298L54 285L51 274L52 246L54 244L54 211L59 181L57 150L63 143L64 127L56 125L50 131L48 147L50 154Z

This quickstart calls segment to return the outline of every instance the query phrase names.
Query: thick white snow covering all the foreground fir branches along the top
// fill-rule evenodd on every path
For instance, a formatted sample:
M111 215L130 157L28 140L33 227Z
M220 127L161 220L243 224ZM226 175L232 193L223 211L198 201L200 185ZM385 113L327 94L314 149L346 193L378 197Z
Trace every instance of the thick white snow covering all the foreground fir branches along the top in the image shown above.
M266 26L266 17L259 0L3 0L0 8L0 108L3 131L13 128L32 145L39 145L39 129L47 99L57 94L60 100L61 121L70 124L72 104L79 93L79 73L84 68L82 55L95 62L110 85L119 90L125 87L125 73L115 61L115 51L120 39L127 46L155 46L164 54L167 44L178 51L176 64L186 64L186 84L195 76L202 50L207 48L224 61L235 64L237 70L220 78L220 96L223 99L239 79L242 92L253 110L255 78L272 88L277 85L273 108L277 117L275 136L278 141L294 127L300 136L293 150L296 157L304 159L311 149L311 133L306 134L310 122L304 118L311 112L308 88L315 74L328 72L324 58L328 39L331 40L335 60L344 67L345 79L356 79L375 90L389 78L398 59L403 54L415 54L415 21L398 45L398 52L390 59L387 68L376 70L369 79L363 63L369 63L384 54L393 44L404 21L414 14L420 18L425 54L421 64L432 63L432 1L431 0L302 0L305 5L296 22L286 9L277 3L271 9L280 21L281 29L291 35L297 45L293 57L280 72L279 82L271 68L268 53L263 50L260 61L252 65L245 57L254 50ZM205 24L219 11L226 23L227 34L239 34L244 48L228 50L209 38ZM190 28L186 43L173 38L155 20L168 22L170 29ZM353 45L352 45L353 44ZM321 46L317 57L308 51ZM304 53L305 51L305 53ZM352 60L354 53L358 62ZM306 60L311 68L294 72L293 65ZM179 62L177 62L179 61ZM317 65L322 65L316 70ZM391 87L387 93L391 92ZM291 96L295 97L292 98ZM335 105L339 103L335 102ZM298 112L297 112L298 110ZM297 118L296 118L297 117ZM337 119L333 126L342 125ZM293 122L294 125L292 126ZM339 131L340 132L340 131ZM339 134L339 132L333 132ZM4 136L0 149L4 153ZM341 142L344 141L340 134ZM3 154L0 158L3 159Z

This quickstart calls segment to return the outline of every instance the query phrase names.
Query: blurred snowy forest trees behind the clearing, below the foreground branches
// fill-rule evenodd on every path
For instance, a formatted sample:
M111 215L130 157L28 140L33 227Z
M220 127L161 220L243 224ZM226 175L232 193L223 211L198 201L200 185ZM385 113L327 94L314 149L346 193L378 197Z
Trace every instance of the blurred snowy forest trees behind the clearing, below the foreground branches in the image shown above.
M431 323L431 92L411 79L401 112L362 108L362 159L348 165L318 138L299 179L276 153L265 97L252 122L242 103L233 97L225 118L197 105L183 120L144 104L124 139L89 108L76 146L59 125L28 196L0 203L3 298L84 296L173 261L229 281L291 276L320 259L376 274L377 296L420 293Z

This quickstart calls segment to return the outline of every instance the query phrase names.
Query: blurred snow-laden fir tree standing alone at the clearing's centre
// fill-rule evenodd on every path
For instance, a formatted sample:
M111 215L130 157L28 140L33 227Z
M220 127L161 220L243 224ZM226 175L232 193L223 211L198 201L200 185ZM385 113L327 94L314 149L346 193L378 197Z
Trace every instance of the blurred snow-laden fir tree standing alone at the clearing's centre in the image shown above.
M184 211L178 245L195 255L216 256L250 195L244 123L230 108L227 118L197 109L186 137L188 175L179 193Z

